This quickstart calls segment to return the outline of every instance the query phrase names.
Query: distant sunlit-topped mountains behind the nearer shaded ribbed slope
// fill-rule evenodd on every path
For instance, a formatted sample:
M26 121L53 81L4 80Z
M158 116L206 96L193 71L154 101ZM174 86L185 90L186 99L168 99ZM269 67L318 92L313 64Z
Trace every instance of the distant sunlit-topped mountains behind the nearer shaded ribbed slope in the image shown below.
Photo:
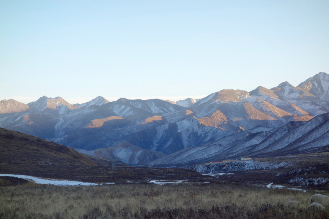
M187 107L178 105L179 101L161 99L120 98L106 102L101 96L74 105L60 97L43 96L26 104L28 109L25 105L18 109L17 101L7 106L6 112L13 113L0 114L0 127L87 151L118 148L127 142L141 150L169 155L239 132L261 139L291 121L309 121L329 112L329 101L322 98L326 93L312 90L320 82L326 88L323 80L327 76L317 74L302 82L302 87L282 82L271 89L259 86L250 92L220 90L195 102L185 99ZM304 86L307 83L317 85Z

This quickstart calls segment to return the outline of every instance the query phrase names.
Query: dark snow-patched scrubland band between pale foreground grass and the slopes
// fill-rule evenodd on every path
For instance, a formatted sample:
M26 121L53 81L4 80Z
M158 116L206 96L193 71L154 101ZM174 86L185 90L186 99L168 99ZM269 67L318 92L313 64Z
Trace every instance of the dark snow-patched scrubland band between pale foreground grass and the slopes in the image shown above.
M16 174L43 179L83 182L86 185L108 183L154 183L170 182L231 182L266 186L288 186L300 189L329 190L329 154L308 154L275 158L262 158L255 161L229 162L222 164L196 164L191 169L153 168L117 166L75 166L75 165L38 165L38 164L1 164L0 174ZM246 165L248 163L248 165ZM252 163L252 164L249 164ZM254 163L254 164L253 164ZM262 169L250 169L250 166ZM284 164L284 165L277 165ZM234 166L232 166L234 165ZM280 166L279 168L277 166ZM224 167L224 168L223 168ZM201 174L199 172L222 174ZM203 170L203 171L200 171ZM232 171L232 170L236 171ZM230 171L231 170L231 171ZM228 174L230 173L230 174ZM6 184L2 183L3 186ZM53 184L53 183L52 183ZM57 183L59 184L59 183ZM78 185L79 183L77 183ZM17 185L9 183L8 185ZM73 185L73 184L72 184ZM1 182L0 182L1 186Z

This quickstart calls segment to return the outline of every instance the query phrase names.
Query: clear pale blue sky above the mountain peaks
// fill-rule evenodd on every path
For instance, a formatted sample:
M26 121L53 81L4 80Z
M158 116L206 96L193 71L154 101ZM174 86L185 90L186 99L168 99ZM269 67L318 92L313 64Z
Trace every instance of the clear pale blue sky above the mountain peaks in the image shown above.
M0 100L202 98L329 73L329 1L0 1Z

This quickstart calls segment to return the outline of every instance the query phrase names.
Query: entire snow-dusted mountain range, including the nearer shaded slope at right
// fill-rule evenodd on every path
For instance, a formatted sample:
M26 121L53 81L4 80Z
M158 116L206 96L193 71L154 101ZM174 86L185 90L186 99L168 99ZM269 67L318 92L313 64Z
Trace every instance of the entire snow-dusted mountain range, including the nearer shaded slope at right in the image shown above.
M297 87L286 81L271 89L221 90L203 99L176 102L125 98L109 102L99 96L70 104L61 97L43 96L23 104L10 99L0 101L0 127L130 165L262 157L294 153L296 142L283 141L280 145L289 144L282 148L275 142L293 130L299 130L296 135L304 133L300 130L308 129L301 127L313 127L308 125L311 121L320 125L317 118L329 112L328 92L329 75L320 72ZM300 138L316 136L307 133ZM311 144L304 144L298 144L298 151L312 151ZM316 149L325 146L320 145Z

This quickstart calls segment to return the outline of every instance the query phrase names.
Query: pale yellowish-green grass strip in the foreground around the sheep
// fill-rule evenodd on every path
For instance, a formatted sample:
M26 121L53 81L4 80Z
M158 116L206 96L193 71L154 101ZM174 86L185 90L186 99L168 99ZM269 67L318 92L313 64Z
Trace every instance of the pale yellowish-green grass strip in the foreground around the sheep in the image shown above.
M232 183L11 186L0 188L0 218L329 218L328 207L309 208L315 193Z

